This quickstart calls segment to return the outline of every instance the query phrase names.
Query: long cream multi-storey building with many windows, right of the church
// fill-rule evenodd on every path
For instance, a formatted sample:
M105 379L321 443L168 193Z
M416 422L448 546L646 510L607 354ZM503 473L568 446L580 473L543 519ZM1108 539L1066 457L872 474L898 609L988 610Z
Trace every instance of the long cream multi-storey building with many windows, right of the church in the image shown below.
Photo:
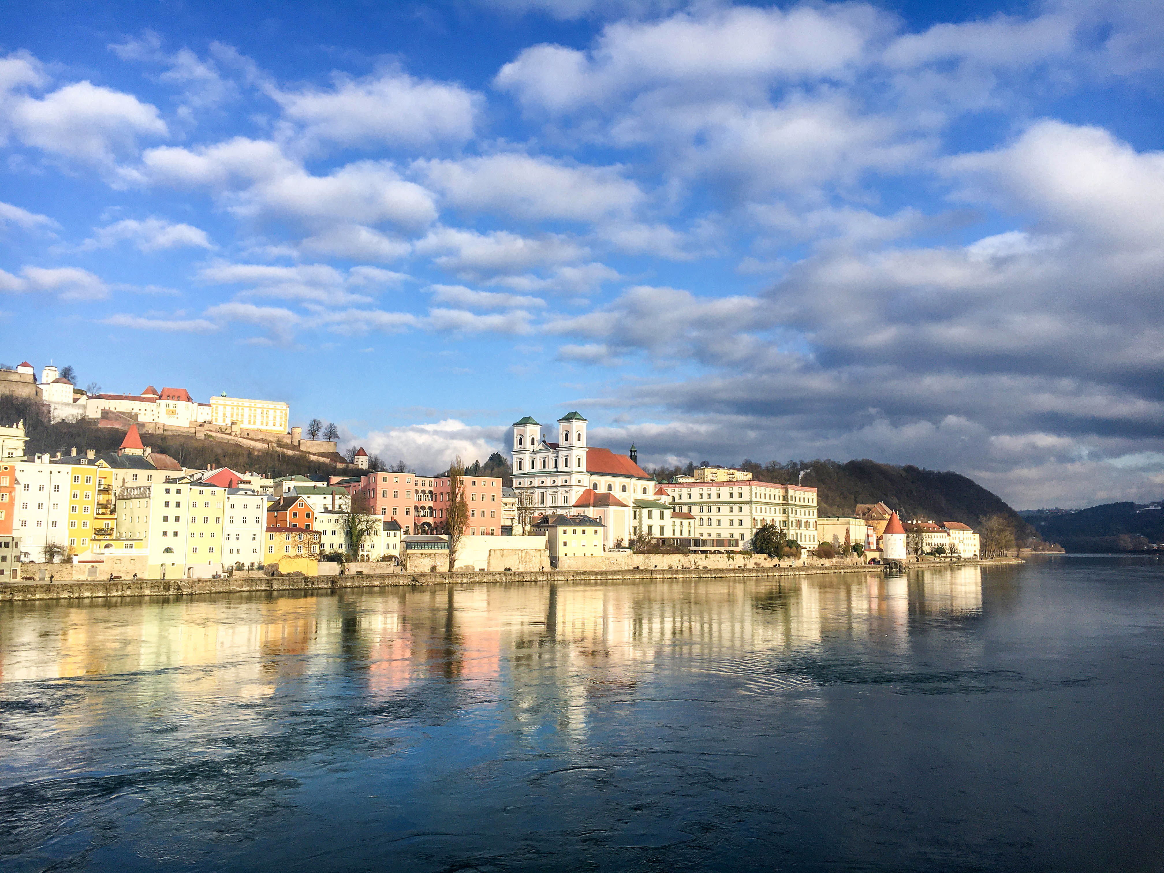
M819 542L815 488L759 480L665 482L659 488L676 512L695 517L695 538L711 540L709 547L747 548L766 524L786 530L804 548Z

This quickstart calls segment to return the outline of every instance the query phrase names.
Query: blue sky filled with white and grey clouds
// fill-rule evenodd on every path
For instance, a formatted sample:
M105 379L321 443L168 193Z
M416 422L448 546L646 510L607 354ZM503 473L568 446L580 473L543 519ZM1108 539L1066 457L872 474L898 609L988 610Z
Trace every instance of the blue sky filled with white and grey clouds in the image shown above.
M1158 0L10 5L0 361L1155 501L1162 81Z

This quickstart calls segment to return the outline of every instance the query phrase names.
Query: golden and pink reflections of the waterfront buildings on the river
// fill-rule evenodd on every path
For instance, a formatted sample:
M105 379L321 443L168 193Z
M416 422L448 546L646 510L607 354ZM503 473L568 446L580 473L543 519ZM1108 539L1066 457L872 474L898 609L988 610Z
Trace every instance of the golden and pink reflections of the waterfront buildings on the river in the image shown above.
M10 683L136 677L137 715L187 718L230 707L263 718L281 689L342 679L368 702L424 690L455 707L497 704L509 730L556 726L582 743L596 707L647 694L661 676L693 688L808 687L781 659L842 638L908 650L916 617L972 617L978 567L909 576L676 580L624 584L459 584L325 596L5 604L0 691ZM243 705L240 705L243 704ZM94 704L97 705L97 704ZM249 707L249 708L248 708ZM69 708L83 731L125 712Z

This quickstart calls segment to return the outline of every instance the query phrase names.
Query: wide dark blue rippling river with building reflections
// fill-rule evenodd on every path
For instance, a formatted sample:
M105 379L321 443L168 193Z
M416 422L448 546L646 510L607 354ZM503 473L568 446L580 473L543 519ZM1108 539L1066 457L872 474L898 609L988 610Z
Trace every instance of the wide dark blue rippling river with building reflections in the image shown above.
M0 870L1164 870L1164 566L0 604Z

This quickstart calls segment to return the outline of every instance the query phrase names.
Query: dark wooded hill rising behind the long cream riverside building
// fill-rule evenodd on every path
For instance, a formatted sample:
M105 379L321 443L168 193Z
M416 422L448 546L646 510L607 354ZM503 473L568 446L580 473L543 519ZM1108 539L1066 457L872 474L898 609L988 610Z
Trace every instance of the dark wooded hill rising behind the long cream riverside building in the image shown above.
M906 519L961 521L978 530L986 516L1001 514L1014 524L1018 539L1036 535L1035 528L1001 497L959 473L925 470L911 464L896 467L867 459L844 463L816 460L769 461L766 464L745 460L739 468L757 478L781 484L795 484L803 471L802 483L817 489L821 516L849 516L858 503L885 501ZM668 477L688 471L683 468L659 470Z

